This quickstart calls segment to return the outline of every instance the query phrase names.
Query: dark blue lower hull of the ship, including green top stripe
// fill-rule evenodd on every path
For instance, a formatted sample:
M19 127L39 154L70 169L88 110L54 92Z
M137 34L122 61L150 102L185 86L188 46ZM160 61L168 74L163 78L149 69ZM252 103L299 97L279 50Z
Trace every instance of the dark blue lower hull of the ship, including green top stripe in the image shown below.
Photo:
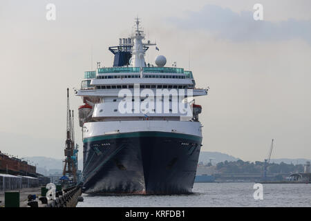
M137 132L84 140L84 192L191 193L202 137Z

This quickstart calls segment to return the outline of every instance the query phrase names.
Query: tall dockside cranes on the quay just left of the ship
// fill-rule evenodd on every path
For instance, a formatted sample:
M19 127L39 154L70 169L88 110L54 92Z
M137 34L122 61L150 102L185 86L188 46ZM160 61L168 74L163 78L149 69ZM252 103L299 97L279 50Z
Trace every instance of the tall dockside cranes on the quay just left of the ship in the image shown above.
M73 177L73 182L77 182L77 166L75 161L75 138L73 129L73 116L71 116L69 105L69 88L67 88L67 130L66 130L66 147L63 175Z

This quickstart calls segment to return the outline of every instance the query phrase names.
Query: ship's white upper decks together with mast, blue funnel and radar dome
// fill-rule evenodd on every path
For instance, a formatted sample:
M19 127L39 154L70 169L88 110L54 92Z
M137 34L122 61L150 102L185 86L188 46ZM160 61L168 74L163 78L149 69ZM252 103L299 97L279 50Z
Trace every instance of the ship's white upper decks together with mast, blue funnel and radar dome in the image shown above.
M144 32L138 26L136 19L136 30L131 38L120 39L119 46L110 47L109 50L115 55L113 67L100 67L97 62L97 69L86 71L82 80L81 90L76 95L87 96L115 96L120 89L138 88L156 89L195 89L196 81L190 70L176 67L167 67L167 59L158 55L155 65L147 64L144 59L149 46L156 46L150 41L143 42ZM159 50L158 48L156 48ZM197 96L207 95L207 89L196 89Z

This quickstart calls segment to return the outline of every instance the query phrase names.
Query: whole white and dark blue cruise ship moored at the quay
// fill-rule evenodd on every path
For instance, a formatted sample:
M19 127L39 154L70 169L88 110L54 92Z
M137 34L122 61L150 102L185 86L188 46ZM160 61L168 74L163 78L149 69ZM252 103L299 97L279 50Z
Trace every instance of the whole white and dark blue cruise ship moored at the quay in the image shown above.
M195 88L191 71L165 66L162 55L146 63L147 50L159 49L145 42L140 19L134 27L109 47L113 66L97 63L75 90L84 103L80 182L84 193L191 193L202 146L202 107L194 97L208 88Z

